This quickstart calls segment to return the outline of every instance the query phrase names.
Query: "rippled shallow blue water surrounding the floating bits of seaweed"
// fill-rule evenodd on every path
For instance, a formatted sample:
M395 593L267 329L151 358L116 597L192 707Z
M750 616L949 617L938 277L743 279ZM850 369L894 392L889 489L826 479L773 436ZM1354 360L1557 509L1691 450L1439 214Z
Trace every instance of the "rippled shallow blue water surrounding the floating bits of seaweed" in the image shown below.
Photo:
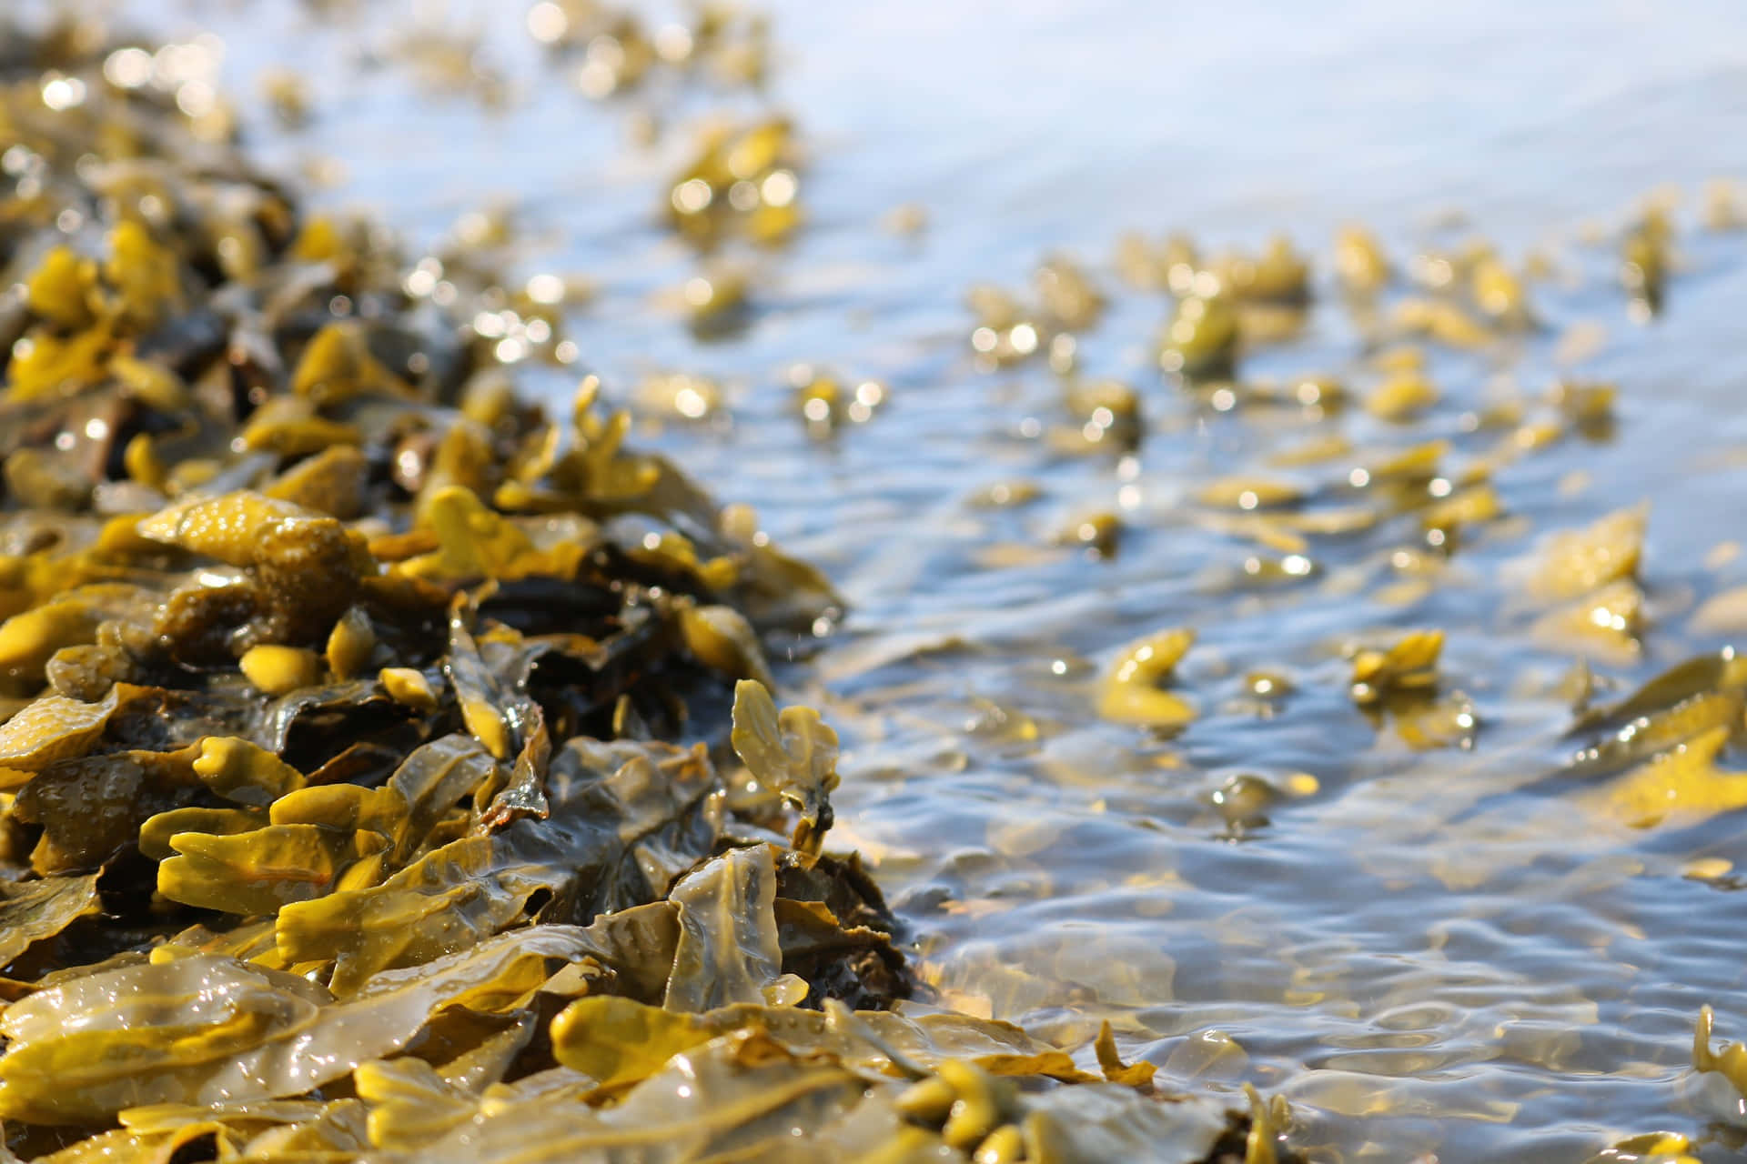
M489 16L500 7L514 12ZM438 19L430 7L136 5L154 35L218 33L232 91L252 92L269 61L311 80L311 127L276 131L259 108L250 124L276 166L342 164L321 202L370 206L414 246L465 211L514 206L526 272L599 284L570 335L611 389L657 368L728 384L728 422L650 424L643 440L758 506L847 595L839 633L783 677L851 745L839 839L875 860L940 1002L1071 1044L1108 1017L1176 1084L1286 1094L1314 1159L1581 1161L1654 1127L1710 1136L1705 1161L1747 1159L1742 1103L1688 1070L1702 1003L1721 1035L1747 1035L1747 897L1682 876L1696 857L1747 862L1740 813L1632 829L1592 789L1543 780L1578 747L1555 689L1574 653L1530 637L1537 611L1513 572L1541 532L1649 499L1642 658L1599 670L1623 693L1723 644L1688 620L1747 581L1740 557L1707 565L1740 536L1731 499L1747 487L1733 344L1747 236L1696 230L1691 195L1747 173L1747 10L1359 2L1312 21L1261 3L779 3L772 94L809 143L811 223L763 260L749 328L704 342L657 304L692 272L653 215L685 134L629 145L636 103L577 94L521 9L438 9L479 28L508 79L508 108L489 112L421 87L393 52ZM690 96L673 120L723 103L756 105ZM1637 325L1612 251L1581 244L1581 223L1614 227L1663 183L1688 194L1686 265L1667 314ZM900 202L928 211L915 239L879 227ZM1452 211L1471 227L1450 227ZM1122 230L1209 246L1284 230L1326 284L1347 220L1398 258L1473 230L1513 260L1544 251L1544 328L1502 353L1438 351L1443 401L1412 426L1361 408L1225 415L1153 370L1167 300L1111 274ZM966 286L1022 284L1053 250L1092 264L1113 298L1080 354L1141 389L1129 457L1053 452L1046 433L1069 422L1055 377L971 359ZM1571 359L1560 340L1578 325L1600 340ZM793 361L879 377L889 403L809 436ZM1333 295L1244 372L1375 379ZM1211 475L1331 433L1364 448L1448 438L1460 466L1504 438L1464 422L1511 391L1499 377L1536 398L1562 372L1619 384L1614 433L1502 468L1509 518L1434 585L1392 565L1419 541L1412 515L1317 537L1314 576L1254 585L1244 562L1265 551L1188 503ZM559 398L570 379L526 382ZM1303 475L1338 482L1352 464ZM970 504L1015 476L1039 499ZM1113 560L1050 546L1094 510L1122 515ZM1176 682L1198 719L1172 740L1101 722L1111 653L1174 625L1200 633ZM1412 627L1448 632L1445 691L1473 700L1473 750L1415 752L1347 696L1345 640ZM1261 667L1291 677L1277 705L1244 698ZM1317 791L1233 827L1211 794L1237 773L1282 787L1310 773Z

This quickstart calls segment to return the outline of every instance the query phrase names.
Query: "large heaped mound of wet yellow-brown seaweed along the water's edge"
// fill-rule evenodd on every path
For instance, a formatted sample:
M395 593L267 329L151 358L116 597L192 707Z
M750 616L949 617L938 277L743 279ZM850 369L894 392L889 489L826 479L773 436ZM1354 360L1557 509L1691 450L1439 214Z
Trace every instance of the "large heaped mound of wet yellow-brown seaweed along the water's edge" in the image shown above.
M136 52L0 63L9 1159L1274 1159L1108 1037L894 1010L767 689L825 578Z

